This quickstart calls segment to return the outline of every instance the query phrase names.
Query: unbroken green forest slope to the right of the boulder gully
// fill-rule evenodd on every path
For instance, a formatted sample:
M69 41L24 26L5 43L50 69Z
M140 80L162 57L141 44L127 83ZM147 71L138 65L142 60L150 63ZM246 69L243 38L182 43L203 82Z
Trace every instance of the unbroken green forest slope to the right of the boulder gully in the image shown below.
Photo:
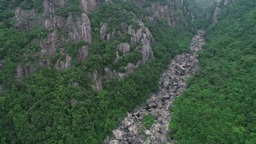
M235 0L206 30L200 69L175 100L180 144L256 143L256 1Z

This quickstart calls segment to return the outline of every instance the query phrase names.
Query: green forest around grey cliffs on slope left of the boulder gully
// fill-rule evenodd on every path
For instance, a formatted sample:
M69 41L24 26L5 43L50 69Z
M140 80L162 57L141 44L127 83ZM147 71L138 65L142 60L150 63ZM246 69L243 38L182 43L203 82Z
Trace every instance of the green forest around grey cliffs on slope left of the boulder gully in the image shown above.
M81 13L77 9L77 0L70 0L70 6L60 7L52 15L63 18L68 12ZM28 4L29 3L29 4ZM93 43L89 45L89 54L81 65L75 60L81 46L88 43L63 43L57 47L65 48L73 58L72 67L61 72L53 68L60 55L55 55L49 66L42 66L36 73L18 82L15 79L17 65L31 63L37 66L36 55L40 46L36 41L46 40L48 31L35 27L32 30L19 31L13 28L15 8L34 8L43 12L43 0L1 0L0 25L0 60L4 66L0 70L0 143L48 143L48 144L99 144L118 126L118 118L123 118L127 111L143 103L152 91L157 91L160 74L163 73L171 58L178 53L188 51L189 42L196 31L184 12L182 23L175 28L169 26L165 18L153 25L144 18L145 9L134 2L113 1L103 3L95 12L88 14L92 26ZM136 16L135 16L136 15ZM109 18L110 17L110 18ZM107 22L108 32L121 29L121 22L127 22L138 29L133 18L141 18L151 33L156 44L152 43L155 59L140 65L123 80L104 81L103 91L91 88L87 73L97 70L102 74L103 66L112 70L123 71L127 63L137 63L141 53L131 48L131 54L115 62L116 46L129 42L130 35L116 36L115 41L106 43L100 39L101 22ZM100 59L98 55L102 55ZM25 57L26 56L26 57ZM62 58L63 59L63 58ZM72 86L72 83L79 86ZM70 106L71 100L78 100ZM152 119L149 119L151 123ZM146 124L146 123L145 123Z

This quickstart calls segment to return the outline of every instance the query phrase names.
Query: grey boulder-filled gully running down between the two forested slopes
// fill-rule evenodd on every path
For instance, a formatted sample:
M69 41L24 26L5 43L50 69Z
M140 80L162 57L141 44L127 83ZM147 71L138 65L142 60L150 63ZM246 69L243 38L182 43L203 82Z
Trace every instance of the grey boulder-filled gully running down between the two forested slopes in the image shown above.
M204 44L203 33L203 30L198 30L192 38L190 51L176 56L171 61L168 70L161 75L159 93L151 94L145 106L136 109L135 113L128 113L118 129L112 131L112 136L105 139L104 144L173 143L173 136L168 128L173 112L169 108L174 107L174 99L188 88L186 80L199 68L197 52ZM143 116L147 114L156 118L149 129L142 124Z

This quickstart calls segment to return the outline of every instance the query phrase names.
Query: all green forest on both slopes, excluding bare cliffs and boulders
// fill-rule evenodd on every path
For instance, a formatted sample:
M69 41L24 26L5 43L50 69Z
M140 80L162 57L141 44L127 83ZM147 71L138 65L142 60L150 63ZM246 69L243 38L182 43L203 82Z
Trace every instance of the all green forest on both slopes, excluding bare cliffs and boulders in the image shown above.
M54 0L53 0L54 1ZM45 0L0 0L0 143L1 144L99 144L118 126L118 119L142 104L151 92L159 88L160 74L170 60L189 50L196 28L206 28L206 44L199 52L200 69L188 80L190 88L175 100L170 123L171 135L181 144L255 144L256 143L256 2L235 0L221 3L218 23L212 24L214 0L183 0L183 7L174 5L176 26L166 18L150 23L145 8L153 2L168 5L169 0L102 2L95 12L86 13L91 23L92 44L62 43L49 65L38 66L41 47L55 28L42 28L38 23L31 29L18 30L15 10L34 10L35 19L57 17L72 22L84 11L80 0L66 0L68 5L56 8L44 16ZM174 2L174 1L173 1ZM176 1L175 1L176 2ZM207 12L211 16L207 19ZM191 17L190 13L193 17ZM194 19L193 23L191 19ZM94 70L104 75L104 67L124 72L128 63L137 64L142 55L131 46L129 55L116 58L116 47L130 43L127 31L122 35L122 22L138 30L141 20L149 28L156 43L151 43L154 58L140 64L122 80L102 79L103 90L91 88L88 73ZM100 38L102 23L106 33L115 33L111 41ZM64 37L68 37L64 35ZM59 42L59 41L58 41ZM79 63L76 55L88 46L86 61ZM71 56L71 68L57 71L57 60L65 61L60 49ZM100 56L101 57L100 57ZM48 57L43 57L48 60ZM2 63L4 65L2 65ZM29 63L37 69L33 74L15 79L18 65ZM73 82L78 86L73 86ZM0 89L1 91L1 89ZM76 100L73 106L70 102ZM143 117L143 126L155 123L151 115Z

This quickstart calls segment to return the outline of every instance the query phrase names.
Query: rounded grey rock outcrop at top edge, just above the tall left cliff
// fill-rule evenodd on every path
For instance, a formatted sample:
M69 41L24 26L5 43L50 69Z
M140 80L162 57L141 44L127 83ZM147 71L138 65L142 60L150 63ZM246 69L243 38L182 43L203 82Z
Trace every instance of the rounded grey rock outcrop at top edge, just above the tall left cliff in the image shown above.
M80 0L81 8L86 13L92 13L94 12L100 5L100 0Z

